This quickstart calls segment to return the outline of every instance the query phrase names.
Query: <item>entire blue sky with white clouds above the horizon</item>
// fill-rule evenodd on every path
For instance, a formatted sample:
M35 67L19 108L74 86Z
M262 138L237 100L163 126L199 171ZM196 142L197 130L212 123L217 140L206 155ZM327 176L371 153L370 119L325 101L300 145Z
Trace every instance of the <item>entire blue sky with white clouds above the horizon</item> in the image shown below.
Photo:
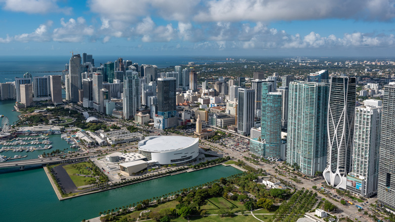
M0 55L393 57L395 0L0 0Z

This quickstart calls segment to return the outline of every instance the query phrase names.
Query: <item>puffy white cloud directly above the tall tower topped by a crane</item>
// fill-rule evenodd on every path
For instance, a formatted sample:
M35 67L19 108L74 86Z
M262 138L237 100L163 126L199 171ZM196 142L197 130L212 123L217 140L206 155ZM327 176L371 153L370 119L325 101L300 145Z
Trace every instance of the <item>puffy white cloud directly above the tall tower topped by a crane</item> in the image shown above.
M82 17L77 18L77 21L71 18L67 22L62 18L60 23L62 27L53 30L52 38L54 41L81 42L85 37L94 35L93 26L88 26Z

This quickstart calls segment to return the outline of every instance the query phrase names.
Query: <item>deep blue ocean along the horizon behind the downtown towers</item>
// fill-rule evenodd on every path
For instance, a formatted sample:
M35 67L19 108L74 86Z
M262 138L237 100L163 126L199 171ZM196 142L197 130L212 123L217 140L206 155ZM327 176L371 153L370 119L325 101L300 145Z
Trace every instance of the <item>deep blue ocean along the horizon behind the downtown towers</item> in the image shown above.
M203 59L186 56L95 56L95 67L100 63L116 61L118 57L123 60L131 60L133 63L157 65L158 68L170 66L186 65L188 62L195 64L205 64L222 62L218 59ZM70 56L0 56L0 82L14 81L15 77L23 77L26 72L48 72L65 70L66 63L70 62ZM18 73L9 73L9 72ZM32 73L32 76L52 75L60 73Z

